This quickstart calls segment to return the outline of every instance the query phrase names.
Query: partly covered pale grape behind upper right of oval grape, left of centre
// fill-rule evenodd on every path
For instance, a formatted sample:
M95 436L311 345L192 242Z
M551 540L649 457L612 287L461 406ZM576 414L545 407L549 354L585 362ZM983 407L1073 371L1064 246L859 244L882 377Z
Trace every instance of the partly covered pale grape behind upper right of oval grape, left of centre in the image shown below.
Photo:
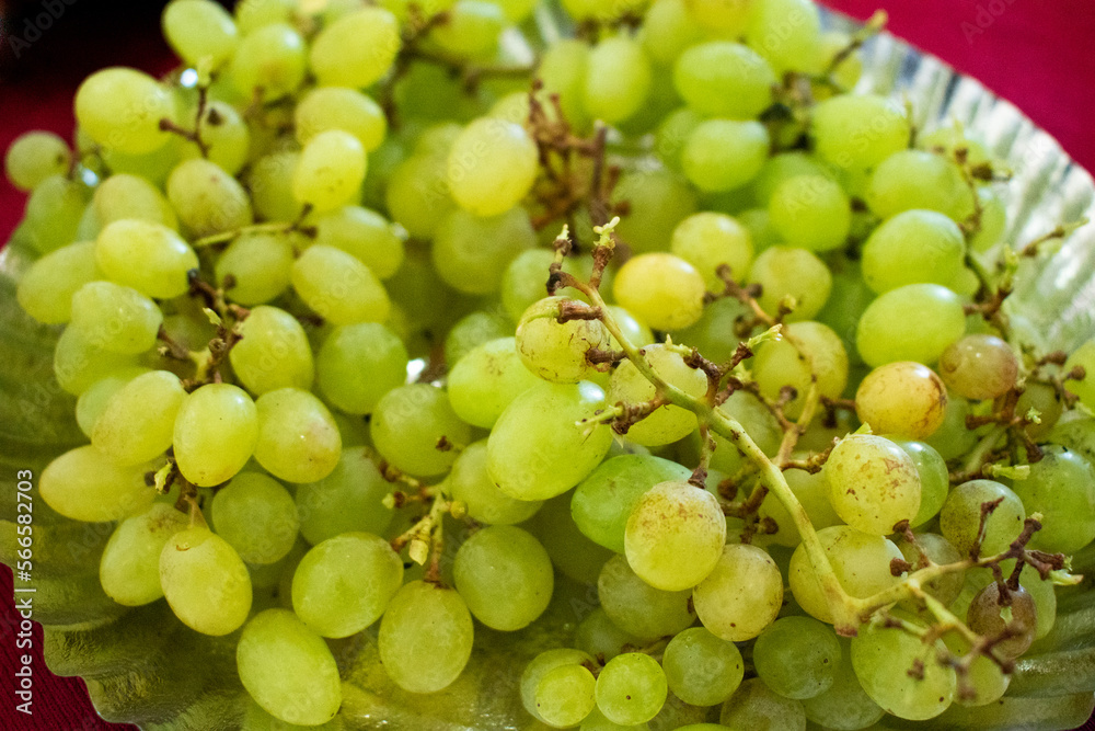
M381 279L395 274L403 264L403 239L383 216L345 206L315 220L315 243L354 254Z

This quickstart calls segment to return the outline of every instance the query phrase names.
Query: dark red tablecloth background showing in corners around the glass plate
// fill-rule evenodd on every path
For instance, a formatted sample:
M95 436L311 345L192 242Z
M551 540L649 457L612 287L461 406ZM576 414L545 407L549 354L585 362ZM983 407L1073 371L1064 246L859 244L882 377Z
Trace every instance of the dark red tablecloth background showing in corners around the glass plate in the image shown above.
M59 7L62 0L53 0ZM25 53L14 58L11 33L22 22L4 24L12 3L0 0L0 150L20 133L72 132L71 99L77 84L96 68L115 64L152 72L172 60L160 39L157 2L107 3L64 0L65 12ZM21 3L32 16L47 5ZM889 11L889 28L940 56L960 71L980 79L1026 112L1052 134L1079 163L1095 171L1095 11L1091 0L827 0L858 18L877 8ZM0 180L0 242L22 215L23 196ZM3 597L0 675L5 686L14 676L11 572L0 571ZM35 649L42 646L41 628ZM94 716L83 683L57 678L41 654L34 660L34 716L14 711L12 690L0 700L2 726L13 731L94 731L132 729ZM1088 722L1085 729L1095 729Z

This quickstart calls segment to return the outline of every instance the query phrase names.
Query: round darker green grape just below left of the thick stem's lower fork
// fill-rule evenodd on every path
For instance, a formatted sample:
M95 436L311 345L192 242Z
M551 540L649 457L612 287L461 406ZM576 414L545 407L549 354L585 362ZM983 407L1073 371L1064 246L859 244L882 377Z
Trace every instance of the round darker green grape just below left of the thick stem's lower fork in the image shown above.
M832 627L811 617L784 617L757 638L757 675L784 698L814 698L835 681L841 659Z

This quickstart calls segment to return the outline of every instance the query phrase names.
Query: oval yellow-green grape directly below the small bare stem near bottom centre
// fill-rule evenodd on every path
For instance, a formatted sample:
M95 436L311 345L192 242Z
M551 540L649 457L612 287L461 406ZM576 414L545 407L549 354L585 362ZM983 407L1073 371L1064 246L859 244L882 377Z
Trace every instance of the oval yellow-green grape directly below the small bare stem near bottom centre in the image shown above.
M413 581L395 593L380 621L380 662L404 690L437 693L468 664L473 631L460 594Z

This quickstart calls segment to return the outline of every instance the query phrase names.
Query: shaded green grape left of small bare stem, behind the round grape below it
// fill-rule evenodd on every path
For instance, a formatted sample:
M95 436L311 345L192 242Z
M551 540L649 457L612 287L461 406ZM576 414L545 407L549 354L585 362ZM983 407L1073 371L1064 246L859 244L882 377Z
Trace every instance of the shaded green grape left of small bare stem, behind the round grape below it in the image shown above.
M313 546L344 533L383 535L394 511L384 505L392 486L364 446L343 449L322 480L297 486L300 533Z

